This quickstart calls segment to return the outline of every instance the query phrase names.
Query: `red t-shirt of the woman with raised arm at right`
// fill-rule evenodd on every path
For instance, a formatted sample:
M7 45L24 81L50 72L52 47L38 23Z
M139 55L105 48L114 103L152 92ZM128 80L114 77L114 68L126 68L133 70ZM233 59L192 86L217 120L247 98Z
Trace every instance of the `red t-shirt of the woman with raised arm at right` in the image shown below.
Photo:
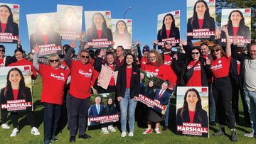
M231 57L220 57L210 63L210 70L215 78L228 77Z

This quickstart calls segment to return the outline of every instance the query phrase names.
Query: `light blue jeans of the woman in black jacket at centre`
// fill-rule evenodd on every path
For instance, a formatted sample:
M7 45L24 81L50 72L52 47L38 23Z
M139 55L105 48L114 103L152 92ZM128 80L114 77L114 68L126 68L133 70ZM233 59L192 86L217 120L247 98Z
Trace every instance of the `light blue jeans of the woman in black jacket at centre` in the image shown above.
M121 131L126 131L127 127L127 110L129 117L129 132L134 132L134 113L137 105L137 101L130 98L130 89L125 89L124 98L120 101L121 110Z

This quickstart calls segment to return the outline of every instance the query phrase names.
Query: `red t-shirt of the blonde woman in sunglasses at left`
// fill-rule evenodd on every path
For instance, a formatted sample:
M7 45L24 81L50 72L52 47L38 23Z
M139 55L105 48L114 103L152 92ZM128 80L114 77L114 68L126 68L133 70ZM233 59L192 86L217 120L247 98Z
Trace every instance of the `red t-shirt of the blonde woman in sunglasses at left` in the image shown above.
M39 64L39 73L41 74L43 84L41 102L62 105L64 87L70 70L62 68L55 70L48 65Z

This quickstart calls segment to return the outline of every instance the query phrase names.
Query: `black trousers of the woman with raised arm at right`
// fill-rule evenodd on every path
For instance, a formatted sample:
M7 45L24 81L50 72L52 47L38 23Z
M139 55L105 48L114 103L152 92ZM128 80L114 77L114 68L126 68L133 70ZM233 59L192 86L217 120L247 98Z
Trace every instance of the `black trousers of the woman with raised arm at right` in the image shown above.
M213 97L219 118L220 125L228 128L235 128L235 116L231 107L232 86L229 77L214 79Z

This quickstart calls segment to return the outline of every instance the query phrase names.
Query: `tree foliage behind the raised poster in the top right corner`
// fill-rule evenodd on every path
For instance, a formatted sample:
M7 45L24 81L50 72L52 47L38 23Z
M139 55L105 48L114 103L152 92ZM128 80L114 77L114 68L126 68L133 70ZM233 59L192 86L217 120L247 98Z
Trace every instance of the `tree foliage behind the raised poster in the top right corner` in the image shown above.
M216 0L216 22L220 26L221 9L251 9L251 38L256 38L256 1Z

